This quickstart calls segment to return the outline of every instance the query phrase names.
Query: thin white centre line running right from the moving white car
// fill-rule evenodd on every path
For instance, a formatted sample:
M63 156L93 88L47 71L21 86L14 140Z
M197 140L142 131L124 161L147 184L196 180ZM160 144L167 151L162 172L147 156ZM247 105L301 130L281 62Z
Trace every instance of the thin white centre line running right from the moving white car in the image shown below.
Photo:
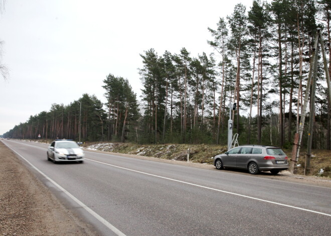
M297 207L297 206L292 206L292 205L287 205L287 204L283 204L283 203L279 203L279 202L275 202L275 201L268 201L268 200L264 200L264 199L261 199L261 198L251 197L251 196L247 196L247 195L243 195L243 194L239 194L239 193L234 193L234 192L228 192L228 191L220 190L220 189L217 189L217 188L202 186L202 185L195 184L195 183L189 183L189 182L181 181L181 180L178 180L178 179L172 179L172 178L163 177L163 176L159 176L159 175L155 175L155 174L149 174L149 173L145 173L145 172L142 172L142 171L128 169L128 168L124 168L124 167L120 167L120 166L116 166L116 165L112 165L112 164L107 164L107 163L104 163L104 162L95 161L95 160L91 160L91 159L87 159L87 158L85 158L85 160L90 160L90 161L94 161L94 162L101 163L101 164L104 164L104 165L110 165L110 166L113 166L113 167L116 167L116 168L125 169L125 170L129 170L129 171L133 171L133 172L137 172L137 173L140 173L140 174L145 174L145 175L149 175L149 176L153 176L153 177L172 180L172 181L179 182L179 183L185 183L185 184L189 184L189 185L196 186L196 187L201 187L201 188L206 188L206 189L210 189L210 190L214 190L214 191L218 191L218 192L224 192L224 193L228 193L228 194L232 194L232 195L236 195L236 196L246 197L246 198L250 198L250 199L253 199L253 200L264 201L264 202L268 202L268 203L271 203L271 204L276 204L276 205L286 206L286 207L290 207L290 208L294 208L294 209L309 211L309 212L316 213L316 214L331 216L331 214L327 214L327 213L323 213L323 212L319 212L319 211L315 211L315 210L309 210L309 209L305 209L305 208L301 208L301 207Z

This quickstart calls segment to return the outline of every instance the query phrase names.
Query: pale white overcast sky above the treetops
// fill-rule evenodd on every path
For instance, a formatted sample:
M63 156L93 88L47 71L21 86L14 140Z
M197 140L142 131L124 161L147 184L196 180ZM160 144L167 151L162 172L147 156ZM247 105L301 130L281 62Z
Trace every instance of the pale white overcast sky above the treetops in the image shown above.
M153 48L192 57L213 52L208 27L252 0L8 0L0 16L0 134L82 94L105 102L108 74L127 78L140 100L139 54ZM216 58L218 60L218 58Z

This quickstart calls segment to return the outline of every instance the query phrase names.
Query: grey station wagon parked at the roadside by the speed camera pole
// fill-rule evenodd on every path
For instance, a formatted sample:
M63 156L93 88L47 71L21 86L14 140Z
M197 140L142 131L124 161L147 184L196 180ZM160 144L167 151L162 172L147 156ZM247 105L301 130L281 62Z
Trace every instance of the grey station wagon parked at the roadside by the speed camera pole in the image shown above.
M260 171L278 174L279 171L288 169L287 156L279 147L263 145L235 147L216 155L214 165L216 169L247 169L251 174L257 174Z

